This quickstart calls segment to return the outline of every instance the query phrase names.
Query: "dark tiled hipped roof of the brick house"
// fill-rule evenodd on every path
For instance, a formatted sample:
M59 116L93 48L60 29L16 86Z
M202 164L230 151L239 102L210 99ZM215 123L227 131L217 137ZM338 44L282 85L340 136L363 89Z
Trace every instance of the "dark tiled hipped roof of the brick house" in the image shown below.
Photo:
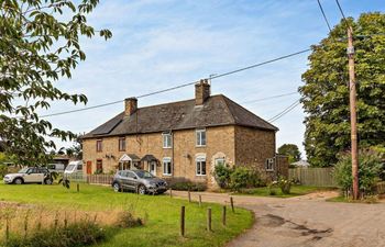
M130 116L124 116L124 112L122 112L82 137L92 138L223 125L278 131L277 127L234 101L219 94L211 96L202 105L196 105L193 99L139 108Z

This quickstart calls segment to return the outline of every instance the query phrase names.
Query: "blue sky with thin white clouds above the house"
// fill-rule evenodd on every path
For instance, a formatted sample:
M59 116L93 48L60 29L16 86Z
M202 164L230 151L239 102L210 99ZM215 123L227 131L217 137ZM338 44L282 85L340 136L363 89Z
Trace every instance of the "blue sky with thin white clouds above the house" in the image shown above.
M334 0L321 1L332 25L341 19ZM341 0L349 16L385 11L383 0ZM109 29L113 37L82 38L87 59L73 78L57 87L85 93L88 106L122 100L155 90L196 81L251 64L308 48L328 34L316 0L255 1L100 1L88 16L96 29ZM243 103L297 91L307 69L302 54L212 81L212 94L222 93L264 119L270 119L299 99L293 94ZM194 98L194 86L139 100L152 105ZM55 102L42 114L81 109ZM89 132L123 110L123 102L106 108L52 116L56 127ZM304 153L305 126L301 106L280 117L277 147L294 143ZM58 146L68 145L57 143Z

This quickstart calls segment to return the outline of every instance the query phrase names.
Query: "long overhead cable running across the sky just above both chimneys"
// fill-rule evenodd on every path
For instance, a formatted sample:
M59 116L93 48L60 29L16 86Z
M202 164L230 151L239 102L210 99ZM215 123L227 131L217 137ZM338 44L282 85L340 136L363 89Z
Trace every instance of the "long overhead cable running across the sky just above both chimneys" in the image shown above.
M244 70L248 70L248 69L256 68L256 67L260 67L260 66L263 66L263 65L266 65L266 64L271 64L271 63L274 63L274 61L277 61L277 60L283 60L283 59L286 59L286 58L289 58L289 57L294 57L294 56L297 56L297 55L300 55L300 54L304 54L304 53L307 53L307 52L310 52L310 50L311 50L310 48L302 49L302 50L299 50L299 52L296 52L296 53L292 53L292 54L288 54L288 55L285 55L285 56L280 56L280 57L277 57L277 58L274 58L274 59L271 59L271 60L262 61L262 63L254 64L254 65L251 65L251 66L248 66L248 67L243 67L243 68L239 68L239 69L235 69L235 70L231 70L231 71L228 71L228 72L210 76L210 78L206 78L206 79L213 80L213 79L218 79L218 78L221 78L221 77L230 76L230 75L233 75L233 74L237 74L237 72L241 72L241 71L244 71ZM158 91L141 94L141 96L138 96L136 98L145 98L145 97L150 97L150 96L154 96L154 94L158 94L158 93L176 90L176 89L179 89L179 88L184 88L184 87L187 87L187 86L191 86L191 85L195 85L195 83L197 83L197 81L187 82L187 83L178 85L178 86L175 86L175 87L172 87L172 88L167 88L167 89L163 89L163 90L158 90ZM87 108L82 108L82 109L77 109L77 110L70 110L70 111L64 111L64 112L57 112L57 113L41 115L40 117L48 117L48 116L56 116L56 115L64 115L64 114L75 113L75 112L81 112L81 111L87 111L87 110L91 110L91 109L103 108L103 106L121 103L124 100L118 100L118 101L103 103L103 104L97 104L97 105L87 106Z

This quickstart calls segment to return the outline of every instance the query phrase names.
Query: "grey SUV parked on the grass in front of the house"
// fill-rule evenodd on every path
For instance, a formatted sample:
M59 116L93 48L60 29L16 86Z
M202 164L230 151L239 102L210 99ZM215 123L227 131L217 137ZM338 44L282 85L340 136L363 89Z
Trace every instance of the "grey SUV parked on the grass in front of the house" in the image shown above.
M140 194L161 194L167 190L167 182L146 170L119 170L112 180L116 192L131 190Z

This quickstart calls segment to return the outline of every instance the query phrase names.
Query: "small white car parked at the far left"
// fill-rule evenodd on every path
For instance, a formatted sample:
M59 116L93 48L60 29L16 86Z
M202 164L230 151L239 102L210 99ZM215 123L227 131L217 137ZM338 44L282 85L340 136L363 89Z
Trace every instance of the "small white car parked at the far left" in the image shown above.
M45 167L26 167L19 170L16 173L6 175L3 178L4 183L42 183L52 184L53 178L51 172Z

